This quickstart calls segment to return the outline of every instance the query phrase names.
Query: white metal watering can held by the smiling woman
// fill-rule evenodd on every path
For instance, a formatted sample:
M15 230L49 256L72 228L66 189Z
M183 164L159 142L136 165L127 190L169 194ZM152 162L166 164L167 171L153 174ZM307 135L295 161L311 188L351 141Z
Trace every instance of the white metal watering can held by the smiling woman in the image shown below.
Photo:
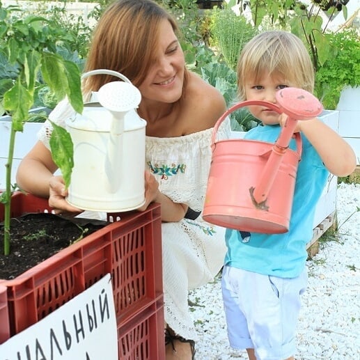
M136 108L141 93L119 72L93 70L123 81L104 84L84 104L82 114L66 121L74 144L67 201L82 210L124 212L145 203L145 128Z

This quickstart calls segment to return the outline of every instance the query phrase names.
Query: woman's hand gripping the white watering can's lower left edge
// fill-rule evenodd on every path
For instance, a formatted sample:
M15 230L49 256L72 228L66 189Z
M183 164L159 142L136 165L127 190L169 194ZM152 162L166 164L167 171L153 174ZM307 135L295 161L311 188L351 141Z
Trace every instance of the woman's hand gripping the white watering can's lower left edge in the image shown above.
M68 190L65 189L63 177L53 176L49 181L49 206L54 209L55 214L70 213L73 216L80 214L83 210L70 205L65 200L66 196Z

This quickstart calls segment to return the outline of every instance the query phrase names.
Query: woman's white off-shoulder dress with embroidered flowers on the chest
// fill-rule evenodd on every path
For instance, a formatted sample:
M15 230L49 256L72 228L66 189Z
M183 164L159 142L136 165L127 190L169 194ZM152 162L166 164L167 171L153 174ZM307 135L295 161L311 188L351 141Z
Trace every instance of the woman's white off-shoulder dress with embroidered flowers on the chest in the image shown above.
M72 107L61 102L49 118L65 127ZM230 128L225 121L217 138L226 139ZM52 125L49 121L38 139L49 148ZM180 137L146 136L146 164L159 182L159 189L175 203L191 210L203 209L210 171L212 129ZM165 321L176 334L196 340L194 322L187 302L188 291L212 281L226 253L225 228L196 219L162 223L162 265ZM219 293L219 297L221 294Z

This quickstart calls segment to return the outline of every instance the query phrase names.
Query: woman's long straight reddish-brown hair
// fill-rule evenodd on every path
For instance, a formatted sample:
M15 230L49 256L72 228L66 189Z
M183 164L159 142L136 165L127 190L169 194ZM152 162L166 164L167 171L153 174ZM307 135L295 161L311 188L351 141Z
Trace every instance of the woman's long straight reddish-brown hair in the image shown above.
M135 86L146 78L148 69L156 61L159 23L168 20L175 35L179 29L169 13L152 0L118 0L104 11L91 42L85 72L96 69L115 70L125 75ZM185 81L187 70L185 69ZM84 79L84 92L97 91L111 75L97 75Z

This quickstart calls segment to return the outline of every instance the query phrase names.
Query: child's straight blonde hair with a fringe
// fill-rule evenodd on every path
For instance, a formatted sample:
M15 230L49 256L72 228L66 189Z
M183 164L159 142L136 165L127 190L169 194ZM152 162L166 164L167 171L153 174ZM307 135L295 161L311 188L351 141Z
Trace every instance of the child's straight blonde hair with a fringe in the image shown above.
M245 99L244 84L257 81L264 72L280 76L292 86L310 93L314 88L314 69L302 40L286 31L265 31L246 43L237 61L237 88Z

